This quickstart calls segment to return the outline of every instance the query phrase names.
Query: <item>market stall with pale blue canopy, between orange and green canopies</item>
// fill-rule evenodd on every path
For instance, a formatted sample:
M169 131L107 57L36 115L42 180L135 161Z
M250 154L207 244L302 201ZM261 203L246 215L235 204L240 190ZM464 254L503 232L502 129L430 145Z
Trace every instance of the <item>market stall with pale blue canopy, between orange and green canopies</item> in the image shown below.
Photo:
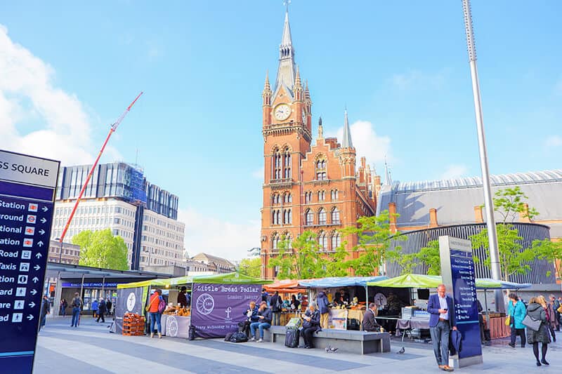
M367 308L367 282L387 279L386 276L342 276L299 281L308 289L311 300L320 290L329 301L328 327L339 330L360 330ZM336 299L341 302L336 302Z

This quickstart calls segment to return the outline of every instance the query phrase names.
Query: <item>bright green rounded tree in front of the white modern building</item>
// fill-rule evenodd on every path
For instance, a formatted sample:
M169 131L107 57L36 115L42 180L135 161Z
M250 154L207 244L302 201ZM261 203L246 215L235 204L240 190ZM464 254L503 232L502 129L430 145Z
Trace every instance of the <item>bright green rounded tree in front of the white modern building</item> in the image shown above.
M113 236L111 229L96 232L86 230L72 237L80 246L80 265L126 270L127 246L121 236Z

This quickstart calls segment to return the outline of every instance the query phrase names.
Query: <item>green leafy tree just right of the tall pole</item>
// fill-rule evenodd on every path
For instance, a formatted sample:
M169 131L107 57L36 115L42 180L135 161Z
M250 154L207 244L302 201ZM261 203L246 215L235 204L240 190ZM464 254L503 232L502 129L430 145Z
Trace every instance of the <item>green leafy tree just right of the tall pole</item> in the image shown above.
M494 210L502 217L501 222L497 222L497 246L499 251L499 268L502 272L502 279L509 281L512 274L526 274L530 270L530 262L537 258L537 248L523 248L523 237L519 236L518 230L511 222L514 222L518 215L523 218L534 218L539 213L534 208L527 208L525 201L527 196L516 186L514 188L499 189L495 193ZM488 229L483 229L478 234L471 236L473 248L485 248L488 256L484 265L490 267L490 244L488 241Z

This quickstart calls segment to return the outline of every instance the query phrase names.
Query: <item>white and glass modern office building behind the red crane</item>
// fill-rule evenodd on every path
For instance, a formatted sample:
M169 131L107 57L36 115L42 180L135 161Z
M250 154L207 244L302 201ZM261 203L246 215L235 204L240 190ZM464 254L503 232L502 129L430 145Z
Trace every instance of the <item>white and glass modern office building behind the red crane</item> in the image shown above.
M91 165L61 168L51 236L58 238ZM178 222L178 196L150 184L143 171L127 163L96 166L65 236L110 228L127 246L131 269L180 265L185 225Z

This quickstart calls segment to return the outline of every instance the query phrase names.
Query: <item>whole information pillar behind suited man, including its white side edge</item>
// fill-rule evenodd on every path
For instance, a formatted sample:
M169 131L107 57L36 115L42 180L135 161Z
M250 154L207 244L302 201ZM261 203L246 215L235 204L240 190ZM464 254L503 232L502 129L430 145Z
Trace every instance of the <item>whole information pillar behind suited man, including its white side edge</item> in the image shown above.
M439 236L441 274L447 293L455 301L457 330L462 336L460 351L450 356L450 366L482 363L478 301L476 298L476 272L472 258L472 244L466 239Z

